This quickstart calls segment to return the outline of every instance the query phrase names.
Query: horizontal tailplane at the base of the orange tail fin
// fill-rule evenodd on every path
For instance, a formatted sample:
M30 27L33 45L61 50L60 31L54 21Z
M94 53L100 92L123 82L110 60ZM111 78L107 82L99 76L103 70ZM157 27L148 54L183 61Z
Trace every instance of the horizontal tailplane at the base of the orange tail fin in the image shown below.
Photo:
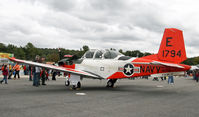
M176 68L184 68L183 66L180 66L178 64L173 63L164 63L159 61L152 61L152 62L132 62L133 64L152 64L152 65L164 65L168 67L176 67Z

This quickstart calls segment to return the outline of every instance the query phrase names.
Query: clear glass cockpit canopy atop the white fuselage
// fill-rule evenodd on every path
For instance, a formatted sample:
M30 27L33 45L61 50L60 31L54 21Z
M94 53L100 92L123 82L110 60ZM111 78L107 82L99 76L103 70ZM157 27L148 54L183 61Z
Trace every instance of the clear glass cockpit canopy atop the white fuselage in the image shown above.
M117 57L124 56L123 54L114 50L97 50L92 49L87 51L82 58L94 58L94 59L115 59Z

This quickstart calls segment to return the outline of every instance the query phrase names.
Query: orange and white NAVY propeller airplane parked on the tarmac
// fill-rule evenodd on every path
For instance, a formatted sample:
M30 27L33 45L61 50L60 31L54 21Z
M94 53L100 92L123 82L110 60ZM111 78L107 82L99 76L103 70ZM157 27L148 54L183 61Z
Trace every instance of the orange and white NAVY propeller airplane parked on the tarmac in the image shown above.
M183 33L176 28L166 28L157 54L134 58L114 50L88 50L80 59L70 56L53 66L32 61L9 58L13 62L53 69L68 74L65 81L72 89L81 88L84 78L105 79L107 87L114 87L117 79L149 76L152 74L187 71L191 67L180 64L186 60Z

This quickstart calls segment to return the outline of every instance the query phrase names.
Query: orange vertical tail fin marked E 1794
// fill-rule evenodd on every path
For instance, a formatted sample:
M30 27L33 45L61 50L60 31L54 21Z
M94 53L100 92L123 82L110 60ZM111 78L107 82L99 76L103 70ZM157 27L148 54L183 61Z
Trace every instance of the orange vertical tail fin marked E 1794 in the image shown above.
M173 63L181 63L187 59L181 30L175 28L165 29L157 56L161 61Z

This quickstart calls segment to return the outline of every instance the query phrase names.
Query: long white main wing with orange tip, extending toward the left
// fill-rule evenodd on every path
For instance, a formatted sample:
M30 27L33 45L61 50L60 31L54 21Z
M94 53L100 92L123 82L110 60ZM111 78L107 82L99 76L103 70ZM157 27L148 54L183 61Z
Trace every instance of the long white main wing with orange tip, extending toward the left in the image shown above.
M94 74L88 73L86 71L78 70L78 69L65 68L65 67L54 66L54 65L49 65L49 64L20 60L20 59L16 59L16 58L9 58L9 60L11 60L13 62L17 62L17 63L23 63L23 64L28 64L28 65L31 65L31 66L53 69L53 70L57 70L57 71L61 71L61 72L67 72L67 73L76 74L76 75L80 75L80 76L98 78L98 76L96 76Z

